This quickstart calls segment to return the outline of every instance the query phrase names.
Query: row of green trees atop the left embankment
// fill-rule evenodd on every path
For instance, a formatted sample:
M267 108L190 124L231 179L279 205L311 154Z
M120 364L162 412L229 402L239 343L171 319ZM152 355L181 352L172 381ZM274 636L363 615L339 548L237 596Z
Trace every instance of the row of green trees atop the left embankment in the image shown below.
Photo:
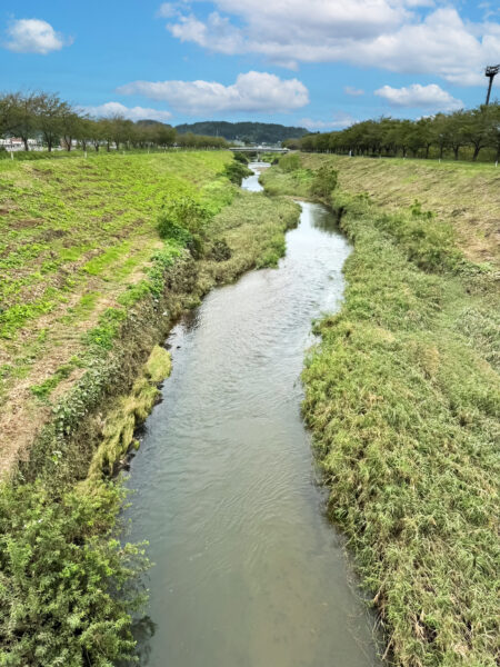
M62 146L70 151L78 145L82 150L93 147L98 151L120 148L227 148L222 137L178 135L166 123L133 122L116 115L111 118L91 118L47 92L10 92L0 94L0 136L23 141L24 150L30 139L41 142L47 150Z

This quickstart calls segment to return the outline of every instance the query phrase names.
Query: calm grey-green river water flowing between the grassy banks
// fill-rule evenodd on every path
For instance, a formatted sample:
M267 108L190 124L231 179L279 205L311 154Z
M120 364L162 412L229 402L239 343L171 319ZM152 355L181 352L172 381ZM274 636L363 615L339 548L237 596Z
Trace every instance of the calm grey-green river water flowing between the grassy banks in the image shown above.
M168 340L128 479L129 537L156 564L141 665L377 664L300 416L311 320L339 308L350 248L327 209L301 206L279 268L213 290Z

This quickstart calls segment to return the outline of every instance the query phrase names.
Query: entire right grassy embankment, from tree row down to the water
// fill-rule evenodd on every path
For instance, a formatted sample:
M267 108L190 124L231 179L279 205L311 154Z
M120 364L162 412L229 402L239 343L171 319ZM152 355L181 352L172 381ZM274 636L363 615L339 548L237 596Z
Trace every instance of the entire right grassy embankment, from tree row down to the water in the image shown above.
M344 303L317 322L303 372L330 516L373 594L391 664L497 666L499 290L493 265L472 258L499 257L500 173L301 159L267 171L267 189L307 197L310 170L332 165L331 203L354 245Z

